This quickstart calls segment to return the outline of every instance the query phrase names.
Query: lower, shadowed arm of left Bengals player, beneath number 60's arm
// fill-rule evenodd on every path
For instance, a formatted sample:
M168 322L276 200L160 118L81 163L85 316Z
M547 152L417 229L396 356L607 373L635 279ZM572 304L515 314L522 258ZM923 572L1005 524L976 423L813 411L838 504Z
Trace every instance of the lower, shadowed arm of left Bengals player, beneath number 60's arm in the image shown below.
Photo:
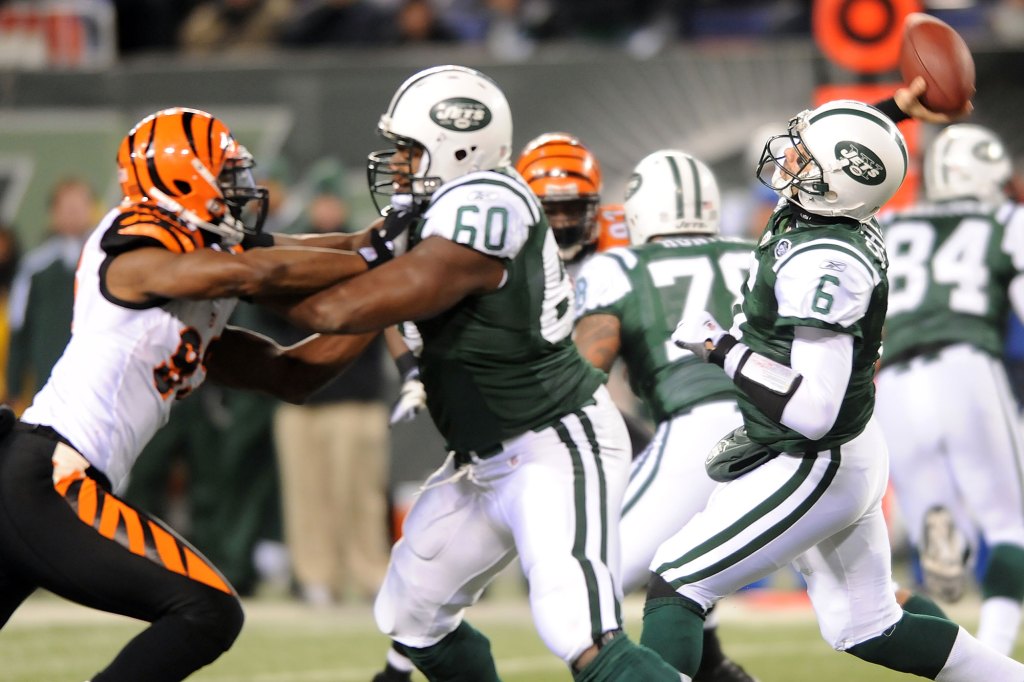
M284 347L256 332L228 327L210 346L207 377L301 403L347 370L376 336L316 334Z

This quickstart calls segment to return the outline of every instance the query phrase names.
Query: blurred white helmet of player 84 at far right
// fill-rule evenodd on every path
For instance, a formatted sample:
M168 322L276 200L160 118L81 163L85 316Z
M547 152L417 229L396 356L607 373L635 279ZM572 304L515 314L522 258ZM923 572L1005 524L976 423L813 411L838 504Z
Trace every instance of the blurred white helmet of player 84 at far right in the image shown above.
M1007 198L1012 175L1002 140L971 123L947 126L925 154L925 196L933 202L973 198L997 204Z

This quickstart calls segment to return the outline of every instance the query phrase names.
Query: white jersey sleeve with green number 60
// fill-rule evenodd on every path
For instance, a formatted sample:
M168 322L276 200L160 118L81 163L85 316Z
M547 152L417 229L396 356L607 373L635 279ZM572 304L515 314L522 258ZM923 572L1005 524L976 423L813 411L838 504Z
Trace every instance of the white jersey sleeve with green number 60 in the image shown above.
M522 182L481 171L438 188L424 218L421 239L441 237L487 256L514 258L541 208Z

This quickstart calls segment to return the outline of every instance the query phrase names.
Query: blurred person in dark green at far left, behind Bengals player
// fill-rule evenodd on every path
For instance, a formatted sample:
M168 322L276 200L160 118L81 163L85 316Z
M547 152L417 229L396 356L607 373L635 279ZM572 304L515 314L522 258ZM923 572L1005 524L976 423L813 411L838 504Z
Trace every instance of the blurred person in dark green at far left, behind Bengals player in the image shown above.
M19 263L7 306L7 399L15 407L24 407L19 398L46 382L71 338L75 267L96 217L96 198L87 181L68 177L54 184L49 236Z

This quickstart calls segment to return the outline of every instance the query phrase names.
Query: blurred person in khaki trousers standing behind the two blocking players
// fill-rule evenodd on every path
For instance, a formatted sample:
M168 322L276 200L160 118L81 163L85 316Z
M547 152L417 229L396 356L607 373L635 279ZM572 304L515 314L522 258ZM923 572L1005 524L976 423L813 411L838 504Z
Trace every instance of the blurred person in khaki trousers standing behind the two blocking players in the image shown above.
M310 170L312 198L293 231L348 231L342 180L342 169L330 161ZM291 334L275 338L288 343L303 336ZM387 569L384 354L378 338L340 379L302 406L281 404L274 417L285 541L300 595L311 605L329 606L348 590L372 599Z

